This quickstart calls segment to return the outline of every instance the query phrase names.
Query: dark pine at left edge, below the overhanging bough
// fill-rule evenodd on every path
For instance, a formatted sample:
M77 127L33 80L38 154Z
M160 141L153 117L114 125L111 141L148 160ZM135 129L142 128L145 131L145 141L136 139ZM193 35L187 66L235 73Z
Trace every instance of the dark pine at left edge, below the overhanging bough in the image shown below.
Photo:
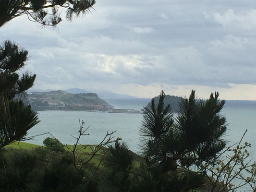
M25 94L33 86L36 75L19 70L24 67L28 52L7 40L0 46L0 148L13 141L24 140L27 131L39 121L36 112L14 96Z

